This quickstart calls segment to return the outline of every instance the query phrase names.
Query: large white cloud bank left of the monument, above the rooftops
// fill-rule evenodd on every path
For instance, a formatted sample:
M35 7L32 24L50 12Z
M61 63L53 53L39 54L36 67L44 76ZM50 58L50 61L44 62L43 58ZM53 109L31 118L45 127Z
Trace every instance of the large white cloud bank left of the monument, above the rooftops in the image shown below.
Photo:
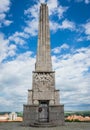
M27 90L32 87L35 64L31 54L26 52L13 61L0 64L0 106L4 107L3 111L22 110L23 104L27 102Z

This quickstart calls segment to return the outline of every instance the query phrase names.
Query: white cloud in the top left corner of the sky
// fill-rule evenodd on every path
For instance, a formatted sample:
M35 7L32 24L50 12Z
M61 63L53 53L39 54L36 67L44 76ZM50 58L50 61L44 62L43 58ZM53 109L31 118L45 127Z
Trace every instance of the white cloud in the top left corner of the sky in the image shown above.
M6 20L6 13L10 9L10 0L0 0L0 27L9 26L12 21Z

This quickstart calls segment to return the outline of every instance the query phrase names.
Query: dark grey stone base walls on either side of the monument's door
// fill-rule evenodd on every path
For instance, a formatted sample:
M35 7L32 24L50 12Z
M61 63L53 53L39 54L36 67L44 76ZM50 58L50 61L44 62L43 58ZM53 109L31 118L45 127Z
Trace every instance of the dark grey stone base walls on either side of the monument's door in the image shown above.
M23 125L32 126L32 124L39 122L38 108L39 108L38 105L24 105ZM49 106L48 114L49 114L48 116L49 123L52 123L57 126L64 125L64 105Z

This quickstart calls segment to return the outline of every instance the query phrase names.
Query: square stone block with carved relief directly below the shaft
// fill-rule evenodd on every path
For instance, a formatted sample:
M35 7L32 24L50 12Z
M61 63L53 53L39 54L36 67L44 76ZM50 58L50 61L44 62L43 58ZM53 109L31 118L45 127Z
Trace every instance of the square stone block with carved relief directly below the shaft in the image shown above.
M37 91L54 90L54 73L33 73L33 89Z

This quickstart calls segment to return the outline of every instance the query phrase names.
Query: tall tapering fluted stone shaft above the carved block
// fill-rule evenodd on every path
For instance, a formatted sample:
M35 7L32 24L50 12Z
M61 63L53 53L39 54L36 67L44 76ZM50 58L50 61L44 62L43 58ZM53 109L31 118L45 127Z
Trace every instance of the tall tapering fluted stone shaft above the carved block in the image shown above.
M52 71L48 6L40 6L36 71Z

